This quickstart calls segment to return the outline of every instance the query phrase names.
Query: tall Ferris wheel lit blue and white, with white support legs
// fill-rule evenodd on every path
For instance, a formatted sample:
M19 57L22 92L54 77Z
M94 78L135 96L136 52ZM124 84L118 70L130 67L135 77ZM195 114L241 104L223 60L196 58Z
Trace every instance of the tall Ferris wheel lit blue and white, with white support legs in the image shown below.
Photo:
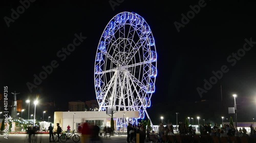
M94 68L99 111L139 111L144 119L155 92L157 53L150 26L134 12L121 12L106 25Z

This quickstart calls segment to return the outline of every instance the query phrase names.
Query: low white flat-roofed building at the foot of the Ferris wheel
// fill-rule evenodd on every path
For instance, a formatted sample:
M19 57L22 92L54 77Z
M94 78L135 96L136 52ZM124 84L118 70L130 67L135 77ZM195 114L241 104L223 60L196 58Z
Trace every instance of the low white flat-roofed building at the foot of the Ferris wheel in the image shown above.
M125 131L127 122L117 126L117 118L125 119L128 123L132 123L134 118L140 118L139 111L116 111L113 113L114 126L116 131ZM124 121L124 120L123 120ZM98 125L101 129L106 126L110 127L111 116L106 114L106 111L56 111L54 112L54 130L56 131L59 123L63 131L67 130L68 125L71 131L77 131L79 124L87 122L89 124Z

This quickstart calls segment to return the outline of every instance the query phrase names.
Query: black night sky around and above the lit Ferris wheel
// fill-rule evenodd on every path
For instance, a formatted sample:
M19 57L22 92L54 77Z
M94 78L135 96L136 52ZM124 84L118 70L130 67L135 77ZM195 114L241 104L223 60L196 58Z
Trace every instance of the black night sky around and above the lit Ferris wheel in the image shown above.
M111 7L110 2L120 4ZM155 38L158 76L152 105L220 100L220 85L227 104L233 104L236 93L238 104L246 99L256 105L256 44L243 50L245 39L256 41L255 4L251 2L35 1L8 26L5 17L11 18L12 9L17 11L21 5L18 1L1 4L1 93L8 86L9 92L20 93L17 99L34 99L39 94L42 101L63 101L64 108L68 101L95 99L94 62L100 36L116 14L127 11L141 15ZM182 24L182 14L191 11L190 5L201 7L187 23L183 21L178 32L174 22ZM80 33L87 38L61 61L57 52ZM232 53L238 51L241 56L236 59ZM38 76L44 71L42 66L54 60L58 67L30 92L27 83L33 83L33 75ZM209 81L212 71L222 66L228 71L201 98L197 88L204 89L204 79Z

